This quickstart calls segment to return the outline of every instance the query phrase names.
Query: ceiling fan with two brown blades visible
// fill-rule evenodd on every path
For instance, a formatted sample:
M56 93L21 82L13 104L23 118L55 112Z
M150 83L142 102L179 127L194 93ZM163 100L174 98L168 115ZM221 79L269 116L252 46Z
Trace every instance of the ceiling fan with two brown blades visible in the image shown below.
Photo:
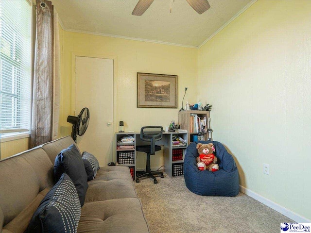
M132 12L132 15L141 16L145 13L153 1L154 0L139 0ZM210 8L207 0L187 0L187 2L200 15Z

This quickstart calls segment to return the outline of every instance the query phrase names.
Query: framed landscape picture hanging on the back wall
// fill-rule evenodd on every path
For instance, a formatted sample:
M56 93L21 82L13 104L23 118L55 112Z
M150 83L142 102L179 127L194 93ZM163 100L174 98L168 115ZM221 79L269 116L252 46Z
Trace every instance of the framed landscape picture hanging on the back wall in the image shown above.
M177 108L177 75L137 73L138 108Z

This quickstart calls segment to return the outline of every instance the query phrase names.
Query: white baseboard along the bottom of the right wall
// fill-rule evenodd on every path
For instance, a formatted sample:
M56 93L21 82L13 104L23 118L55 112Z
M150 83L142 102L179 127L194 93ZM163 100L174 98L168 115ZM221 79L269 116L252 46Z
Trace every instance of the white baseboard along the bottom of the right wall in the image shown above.
M270 208L274 209L278 213L281 213L282 215L285 215L285 216L293 219L295 222L311 222L310 219L307 219L303 216L297 215L293 211L290 211L290 210L286 209L285 207L280 206L279 204L273 202L272 200L269 200L269 199L266 199L266 198L260 196L259 194L253 192L252 190L250 190L248 188L245 188L242 185L240 185L240 191L242 193L246 194L247 196L249 196L255 200L258 200L262 204L269 206Z

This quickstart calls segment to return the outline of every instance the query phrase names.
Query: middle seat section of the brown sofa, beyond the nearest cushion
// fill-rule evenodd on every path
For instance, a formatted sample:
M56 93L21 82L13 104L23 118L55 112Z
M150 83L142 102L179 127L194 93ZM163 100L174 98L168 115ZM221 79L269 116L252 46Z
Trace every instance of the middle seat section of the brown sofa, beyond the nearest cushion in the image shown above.
M133 181L114 179L90 183L86 191L85 202L136 197Z

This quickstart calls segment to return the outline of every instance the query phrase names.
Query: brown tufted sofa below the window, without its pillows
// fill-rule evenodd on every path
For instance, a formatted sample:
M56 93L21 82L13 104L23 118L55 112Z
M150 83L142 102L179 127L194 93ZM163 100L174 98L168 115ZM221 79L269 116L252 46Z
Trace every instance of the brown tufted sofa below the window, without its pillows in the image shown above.
M55 184L57 154L70 136L0 160L0 233L23 233L41 200ZM78 233L149 233L130 170L101 167L88 182Z

